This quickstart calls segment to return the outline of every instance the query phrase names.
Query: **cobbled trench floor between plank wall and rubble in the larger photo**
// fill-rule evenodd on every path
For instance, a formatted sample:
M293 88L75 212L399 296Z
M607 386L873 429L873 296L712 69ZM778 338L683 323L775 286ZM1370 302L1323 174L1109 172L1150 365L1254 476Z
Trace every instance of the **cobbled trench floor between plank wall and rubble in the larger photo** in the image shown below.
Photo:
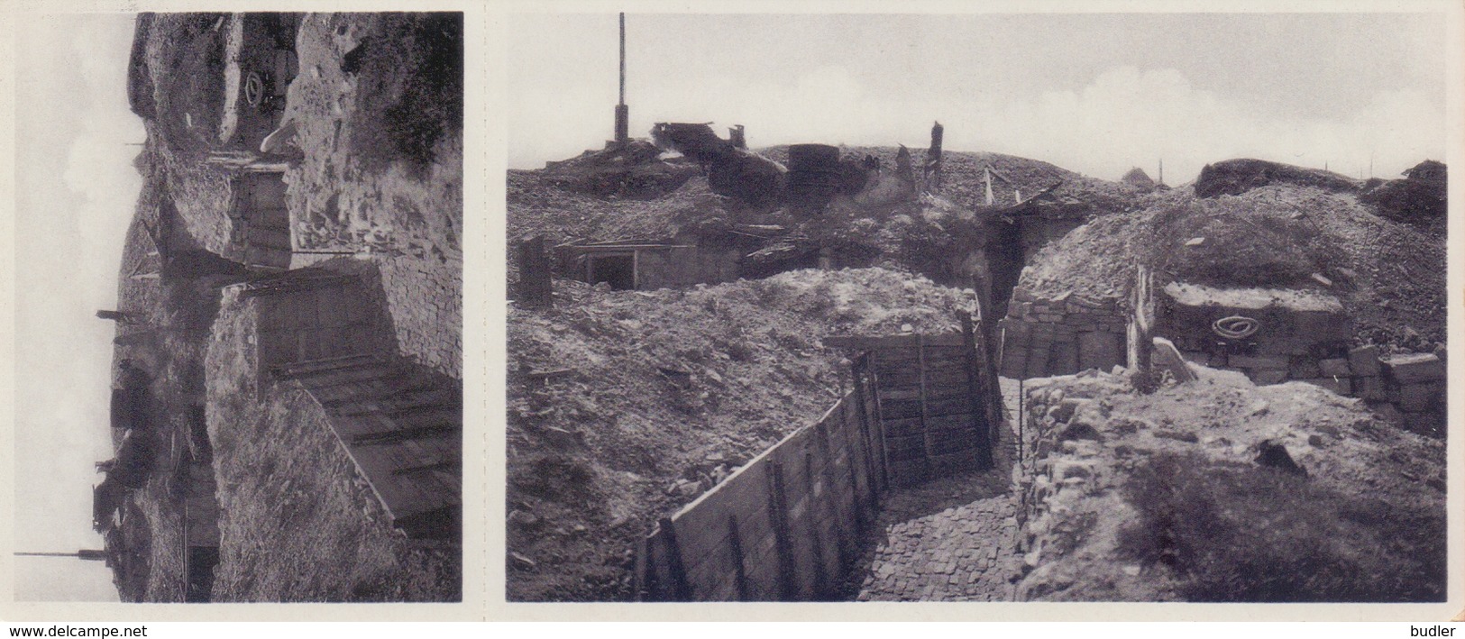
M1015 419L1017 384L1004 384ZM1012 601L1017 551L1014 450L1005 437L993 470L894 490L858 601Z

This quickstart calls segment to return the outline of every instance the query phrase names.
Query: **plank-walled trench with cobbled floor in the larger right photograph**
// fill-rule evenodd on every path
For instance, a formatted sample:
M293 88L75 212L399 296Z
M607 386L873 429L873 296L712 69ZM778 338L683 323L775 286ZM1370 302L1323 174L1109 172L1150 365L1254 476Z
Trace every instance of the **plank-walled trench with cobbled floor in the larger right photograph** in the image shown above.
M1012 437L976 334L826 340L860 350L853 390L661 519L637 599L1011 599Z

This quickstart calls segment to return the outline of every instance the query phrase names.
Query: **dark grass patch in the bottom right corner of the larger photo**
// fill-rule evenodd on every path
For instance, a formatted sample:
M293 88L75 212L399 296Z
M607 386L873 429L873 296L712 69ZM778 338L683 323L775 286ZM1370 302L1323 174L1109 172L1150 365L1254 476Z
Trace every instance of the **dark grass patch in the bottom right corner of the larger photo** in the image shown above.
M1188 601L1444 601L1443 509L1194 454L1156 454L1127 498L1121 553L1173 569Z

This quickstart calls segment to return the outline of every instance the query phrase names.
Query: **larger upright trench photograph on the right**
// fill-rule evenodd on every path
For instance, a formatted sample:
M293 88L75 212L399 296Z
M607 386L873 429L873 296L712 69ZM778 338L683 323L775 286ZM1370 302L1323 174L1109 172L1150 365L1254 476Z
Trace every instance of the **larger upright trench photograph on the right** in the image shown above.
M596 7L502 16L510 604L1458 601L1446 4Z

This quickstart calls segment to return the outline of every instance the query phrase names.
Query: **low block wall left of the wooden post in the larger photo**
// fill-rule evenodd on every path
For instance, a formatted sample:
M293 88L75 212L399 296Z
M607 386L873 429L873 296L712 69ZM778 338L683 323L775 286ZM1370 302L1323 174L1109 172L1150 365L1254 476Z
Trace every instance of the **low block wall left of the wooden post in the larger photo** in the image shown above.
M1017 287L999 322L1001 374L1021 380L1122 366L1128 322L1127 311L1113 298L1062 293L1043 299Z

